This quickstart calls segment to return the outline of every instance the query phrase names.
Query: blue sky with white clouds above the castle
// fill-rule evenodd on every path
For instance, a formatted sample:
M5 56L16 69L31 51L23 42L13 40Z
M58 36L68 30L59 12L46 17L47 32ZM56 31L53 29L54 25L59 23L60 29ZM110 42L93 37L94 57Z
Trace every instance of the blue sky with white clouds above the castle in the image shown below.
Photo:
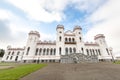
M0 0L0 48L25 46L31 30L41 40L55 40L58 24L66 31L80 25L88 42L104 34L120 52L120 0Z

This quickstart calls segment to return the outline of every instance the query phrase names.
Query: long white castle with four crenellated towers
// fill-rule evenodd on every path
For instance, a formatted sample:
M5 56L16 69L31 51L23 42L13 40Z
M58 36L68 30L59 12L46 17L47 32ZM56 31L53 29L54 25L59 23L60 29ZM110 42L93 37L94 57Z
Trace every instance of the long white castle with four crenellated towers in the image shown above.
M4 62L62 62L62 56L83 54L97 56L99 61L111 61L112 55L106 44L105 36L97 34L95 43L84 42L82 28L75 26L73 31L64 32L63 25L57 25L56 41L41 41L37 31L30 31L24 48L7 47L2 58ZM73 56L78 59L77 56ZM73 59L74 59L73 58ZM72 58L71 58L72 59Z

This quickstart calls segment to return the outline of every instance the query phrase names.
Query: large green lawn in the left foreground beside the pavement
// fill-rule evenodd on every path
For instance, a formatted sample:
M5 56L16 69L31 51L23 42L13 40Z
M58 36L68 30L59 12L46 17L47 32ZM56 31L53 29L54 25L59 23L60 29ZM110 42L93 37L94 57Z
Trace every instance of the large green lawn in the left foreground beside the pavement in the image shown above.
M0 70L0 80L19 80L21 77L44 66L46 66L46 64L24 64L12 69Z

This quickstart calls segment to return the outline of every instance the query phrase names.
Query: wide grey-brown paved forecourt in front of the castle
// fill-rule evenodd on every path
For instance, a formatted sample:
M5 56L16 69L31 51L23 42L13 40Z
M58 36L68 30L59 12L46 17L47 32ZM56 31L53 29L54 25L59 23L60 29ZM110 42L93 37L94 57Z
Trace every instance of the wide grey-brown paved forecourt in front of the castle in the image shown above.
M48 64L20 80L120 80L120 64Z

